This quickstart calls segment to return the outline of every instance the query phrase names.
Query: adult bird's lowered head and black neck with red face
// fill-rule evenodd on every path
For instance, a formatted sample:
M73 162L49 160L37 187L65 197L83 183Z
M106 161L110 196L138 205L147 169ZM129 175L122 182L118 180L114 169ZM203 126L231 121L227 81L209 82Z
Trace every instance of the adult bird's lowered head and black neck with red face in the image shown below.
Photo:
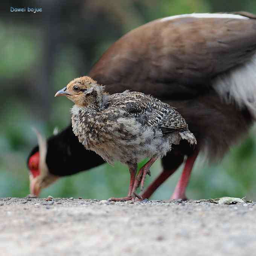
M37 133L38 144L29 154L27 165L30 170L30 193L38 196L41 189L49 186L59 177L91 169L105 163L93 151L86 151L90 159L85 165L84 146L79 143L72 126L46 140ZM74 159L76 159L74 167Z

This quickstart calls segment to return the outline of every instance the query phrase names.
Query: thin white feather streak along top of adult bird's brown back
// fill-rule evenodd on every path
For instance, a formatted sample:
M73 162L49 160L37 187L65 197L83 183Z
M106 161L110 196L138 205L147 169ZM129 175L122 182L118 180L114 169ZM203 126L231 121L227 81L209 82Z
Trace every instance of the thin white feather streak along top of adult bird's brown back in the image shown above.
M228 14L228 13L192 13L192 14L181 14L181 15L175 15L170 16L166 18L162 18L160 21L167 21L167 20L174 20L178 18L229 18L229 19L242 19L242 20L248 20L248 17L244 17L242 15L238 14Z

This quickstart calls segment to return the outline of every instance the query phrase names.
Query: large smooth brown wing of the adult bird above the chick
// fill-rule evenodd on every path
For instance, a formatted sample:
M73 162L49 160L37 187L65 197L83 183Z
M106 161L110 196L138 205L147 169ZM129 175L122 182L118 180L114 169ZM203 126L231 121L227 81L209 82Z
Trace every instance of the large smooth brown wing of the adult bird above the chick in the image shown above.
M140 26L116 41L90 76L111 92L117 84L162 99L201 92L255 52L256 20L229 15L178 15Z

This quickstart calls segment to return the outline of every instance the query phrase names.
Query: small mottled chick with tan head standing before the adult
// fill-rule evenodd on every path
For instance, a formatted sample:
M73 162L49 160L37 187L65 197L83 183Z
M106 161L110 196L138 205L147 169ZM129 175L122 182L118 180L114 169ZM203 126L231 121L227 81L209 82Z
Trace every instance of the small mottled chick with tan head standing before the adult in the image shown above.
M73 132L86 149L93 150L106 162L126 164L130 186L126 197L111 201L142 199L136 194L143 189L149 168L171 150L172 144L187 140L197 143L184 118L175 108L136 91L109 95L104 86L88 76L76 78L55 96L66 95L75 105L71 109ZM137 163L150 160L137 172Z

